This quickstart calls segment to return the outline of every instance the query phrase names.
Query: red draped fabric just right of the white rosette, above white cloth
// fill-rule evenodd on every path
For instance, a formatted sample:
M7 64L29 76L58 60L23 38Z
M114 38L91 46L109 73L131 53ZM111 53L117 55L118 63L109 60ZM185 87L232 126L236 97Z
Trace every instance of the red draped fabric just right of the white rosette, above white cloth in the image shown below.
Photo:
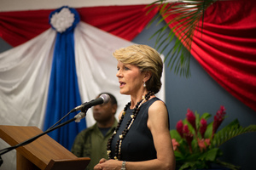
M157 8L147 14L146 5L77 8L81 20L131 41L158 12Z

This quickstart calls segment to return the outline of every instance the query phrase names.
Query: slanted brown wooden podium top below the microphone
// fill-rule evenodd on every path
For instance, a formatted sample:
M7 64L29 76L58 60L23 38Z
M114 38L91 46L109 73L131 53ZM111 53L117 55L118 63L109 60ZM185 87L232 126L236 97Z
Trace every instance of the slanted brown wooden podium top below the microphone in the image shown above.
M39 133L43 133L43 131L38 127L0 125L0 138L11 146L20 144L27 139L31 139ZM70 162L84 160L86 161L86 163L84 163L86 164L85 167L90 161L90 158L78 158L73 155L73 153L57 143L54 139L50 138L47 134L44 134L30 144L18 147L16 150L40 169L45 169L49 165L49 162L52 163L52 161Z

